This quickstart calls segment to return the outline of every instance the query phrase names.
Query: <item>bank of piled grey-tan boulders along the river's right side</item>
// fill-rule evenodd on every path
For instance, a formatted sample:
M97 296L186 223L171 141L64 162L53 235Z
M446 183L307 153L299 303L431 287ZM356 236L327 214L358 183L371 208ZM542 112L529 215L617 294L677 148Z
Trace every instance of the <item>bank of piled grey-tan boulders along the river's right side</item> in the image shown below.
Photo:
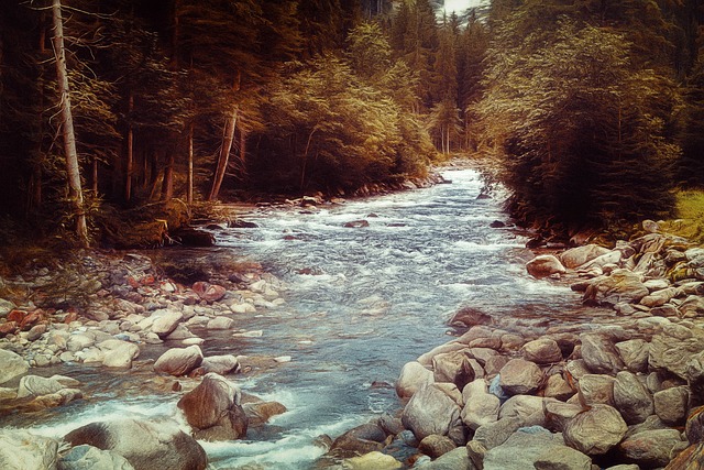
M408 362L396 415L339 437L342 468L704 468L704 248L660 231L542 253L527 270L612 308L521 331L465 308L465 332Z

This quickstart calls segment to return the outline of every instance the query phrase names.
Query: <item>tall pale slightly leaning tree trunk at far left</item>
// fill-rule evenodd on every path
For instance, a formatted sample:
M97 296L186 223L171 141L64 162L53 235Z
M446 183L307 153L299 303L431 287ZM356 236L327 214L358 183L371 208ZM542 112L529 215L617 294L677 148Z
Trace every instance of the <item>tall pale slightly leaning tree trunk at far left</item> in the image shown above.
M84 207L84 193L80 187L80 168L78 167L78 152L76 151L76 134L74 132L74 119L70 112L70 95L68 87L68 73L66 69L66 51L64 48L64 20L62 18L62 2L54 0L52 4L54 17L54 53L56 55L56 75L58 78L58 92L61 97L61 116L64 134L64 151L66 153L66 174L68 176L68 196L72 199L76 215L76 234L85 247L88 242L88 225L86 223L86 209Z

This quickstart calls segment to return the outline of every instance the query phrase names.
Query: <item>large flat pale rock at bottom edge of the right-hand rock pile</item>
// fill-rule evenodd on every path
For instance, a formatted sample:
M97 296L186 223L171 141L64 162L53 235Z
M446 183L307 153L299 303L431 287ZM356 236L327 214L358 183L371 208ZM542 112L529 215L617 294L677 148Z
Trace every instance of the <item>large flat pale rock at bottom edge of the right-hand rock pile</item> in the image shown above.
M484 470L526 470L546 453L564 447L562 436L539 426L518 429L501 446L488 449Z

